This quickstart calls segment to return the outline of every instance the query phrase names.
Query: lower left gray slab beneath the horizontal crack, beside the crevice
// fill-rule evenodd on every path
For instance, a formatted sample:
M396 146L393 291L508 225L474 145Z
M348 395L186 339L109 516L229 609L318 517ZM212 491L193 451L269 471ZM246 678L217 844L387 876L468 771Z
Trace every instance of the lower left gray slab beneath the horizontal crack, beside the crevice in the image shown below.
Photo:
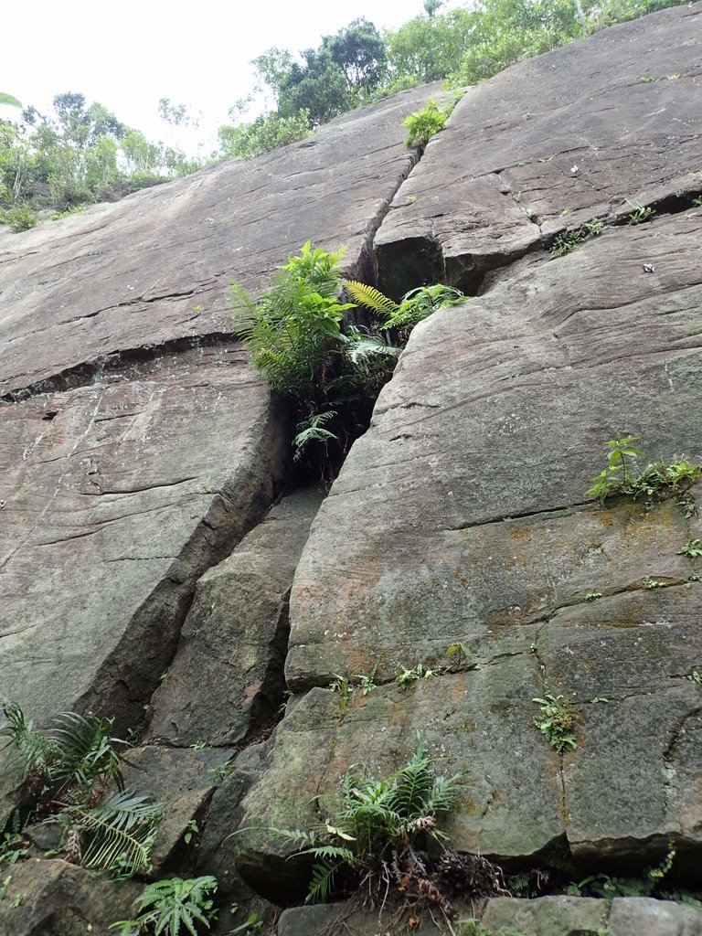
M271 503L286 440L234 345L0 406L0 693L121 732L176 649L197 577Z

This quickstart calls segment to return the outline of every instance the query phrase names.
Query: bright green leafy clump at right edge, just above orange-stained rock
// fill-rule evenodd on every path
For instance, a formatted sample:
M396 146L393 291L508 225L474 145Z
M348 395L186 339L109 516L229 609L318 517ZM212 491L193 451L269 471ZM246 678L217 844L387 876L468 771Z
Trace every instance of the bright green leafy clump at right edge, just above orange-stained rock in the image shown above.
M689 461L684 455L673 456L673 461L650 462L635 475L626 459L643 455L637 435L610 439L607 442L607 468L592 478L592 486L585 497L596 497L604 505L607 497L624 494L636 501L639 497L663 500L671 494L686 490L702 475L702 466Z

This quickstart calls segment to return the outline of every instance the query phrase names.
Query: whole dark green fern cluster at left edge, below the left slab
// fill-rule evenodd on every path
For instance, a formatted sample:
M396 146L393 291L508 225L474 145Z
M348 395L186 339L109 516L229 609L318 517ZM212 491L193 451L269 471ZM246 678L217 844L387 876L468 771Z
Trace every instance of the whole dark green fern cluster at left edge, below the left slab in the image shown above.
M66 857L84 868L120 877L149 870L161 811L124 788L116 746L125 742L110 737L110 719L65 712L39 732L16 703L2 699L0 709L0 750L31 801L22 826L40 819L63 826Z

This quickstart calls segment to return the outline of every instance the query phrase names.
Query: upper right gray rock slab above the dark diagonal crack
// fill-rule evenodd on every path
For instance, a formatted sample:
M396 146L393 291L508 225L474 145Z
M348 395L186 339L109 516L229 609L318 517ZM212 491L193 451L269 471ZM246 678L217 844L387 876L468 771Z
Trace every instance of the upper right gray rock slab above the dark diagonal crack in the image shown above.
M470 88L376 237L381 288L427 276L473 291L586 221L691 204L701 17L699 4L665 10Z

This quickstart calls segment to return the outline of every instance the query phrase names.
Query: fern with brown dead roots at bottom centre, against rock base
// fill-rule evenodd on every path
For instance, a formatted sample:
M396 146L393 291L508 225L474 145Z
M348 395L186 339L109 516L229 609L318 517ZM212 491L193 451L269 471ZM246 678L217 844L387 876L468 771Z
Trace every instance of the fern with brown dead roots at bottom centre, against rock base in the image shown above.
M436 777L433 765L417 735L415 753L383 780L350 768L341 809L328 822L309 832L272 830L298 845L299 855L314 858L309 901L362 888L372 903L385 903L392 891L446 912L446 899L429 879L425 848L446 841L438 819L457 801L461 777Z

